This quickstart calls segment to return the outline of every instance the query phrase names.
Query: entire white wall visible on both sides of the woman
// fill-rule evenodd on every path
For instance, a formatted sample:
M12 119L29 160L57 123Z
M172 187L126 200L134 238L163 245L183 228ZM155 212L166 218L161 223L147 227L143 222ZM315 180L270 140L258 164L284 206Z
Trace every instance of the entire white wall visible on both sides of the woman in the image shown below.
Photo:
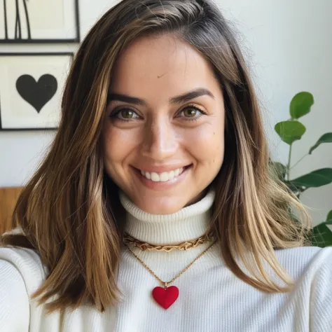
M80 0L81 34L114 4L112 0ZM240 31L262 104L274 158L286 163L288 146L275 134L275 123L289 118L289 102L300 91L312 92L312 113L301 119L307 134L293 145L292 165L321 134L332 132L332 1L219 0L226 17ZM77 46L0 46L5 51L76 50ZM0 132L0 186L25 184L43 157L54 132ZM291 178L332 167L332 145L320 146L291 172ZM332 184L310 189L303 202L317 223L332 209Z

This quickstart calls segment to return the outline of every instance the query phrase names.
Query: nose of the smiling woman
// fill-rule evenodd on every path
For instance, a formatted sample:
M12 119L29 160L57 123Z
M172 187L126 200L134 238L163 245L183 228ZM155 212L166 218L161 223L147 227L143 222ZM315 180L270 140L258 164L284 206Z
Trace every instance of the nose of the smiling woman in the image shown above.
M170 120L162 117L152 120L144 130L141 155L153 160L165 160L177 151L177 132Z

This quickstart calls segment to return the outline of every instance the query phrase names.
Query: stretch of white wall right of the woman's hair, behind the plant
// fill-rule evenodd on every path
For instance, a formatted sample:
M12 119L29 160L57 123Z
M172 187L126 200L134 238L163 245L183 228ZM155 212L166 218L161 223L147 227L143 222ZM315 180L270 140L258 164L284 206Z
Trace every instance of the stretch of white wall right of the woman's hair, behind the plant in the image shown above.
M325 132L332 132L332 1L219 0L226 16L236 22L247 45L254 71L270 149L286 164L289 146L274 132L275 123L289 119L289 102L300 91L314 95L312 111L300 121L307 132L293 144L291 165L305 155ZM291 170L291 179L332 167L332 144L323 144ZM311 207L315 223L332 209L332 184L312 188L301 201Z

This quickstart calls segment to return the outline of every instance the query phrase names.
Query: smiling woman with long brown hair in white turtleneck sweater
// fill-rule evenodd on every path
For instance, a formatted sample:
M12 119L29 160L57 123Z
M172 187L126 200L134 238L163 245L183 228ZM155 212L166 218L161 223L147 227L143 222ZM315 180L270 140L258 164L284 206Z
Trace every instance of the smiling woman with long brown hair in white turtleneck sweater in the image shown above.
M1 331L331 331L332 249L268 160L218 8L121 1L2 237Z

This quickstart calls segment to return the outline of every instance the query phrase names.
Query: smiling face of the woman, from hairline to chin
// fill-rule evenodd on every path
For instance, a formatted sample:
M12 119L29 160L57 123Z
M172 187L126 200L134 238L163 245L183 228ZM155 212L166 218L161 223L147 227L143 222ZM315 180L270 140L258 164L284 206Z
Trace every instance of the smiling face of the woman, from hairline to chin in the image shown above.
M144 37L116 63L104 120L104 165L145 212L199 200L224 153L223 94L211 65L174 36Z

